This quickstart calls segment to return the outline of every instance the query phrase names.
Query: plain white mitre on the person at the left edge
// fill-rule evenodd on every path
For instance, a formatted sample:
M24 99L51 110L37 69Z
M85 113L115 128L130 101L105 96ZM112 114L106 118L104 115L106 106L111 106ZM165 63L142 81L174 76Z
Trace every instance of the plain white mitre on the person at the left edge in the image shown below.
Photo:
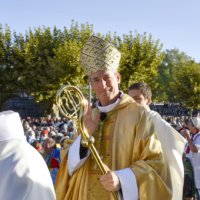
M0 112L0 141L13 138L25 140L19 113L11 110Z

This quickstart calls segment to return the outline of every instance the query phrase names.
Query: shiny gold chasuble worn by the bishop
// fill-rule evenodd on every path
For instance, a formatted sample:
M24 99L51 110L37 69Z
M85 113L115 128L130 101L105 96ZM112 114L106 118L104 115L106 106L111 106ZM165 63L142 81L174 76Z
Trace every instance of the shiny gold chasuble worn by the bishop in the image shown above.
M94 109L93 117L98 112ZM140 200L171 200L169 166L150 115L124 94L107 116L102 137L100 129L94 135L103 163L112 171L130 168L136 176ZM114 200L101 186L101 172L91 154L72 177L69 177L67 159L68 153L56 178L57 200Z

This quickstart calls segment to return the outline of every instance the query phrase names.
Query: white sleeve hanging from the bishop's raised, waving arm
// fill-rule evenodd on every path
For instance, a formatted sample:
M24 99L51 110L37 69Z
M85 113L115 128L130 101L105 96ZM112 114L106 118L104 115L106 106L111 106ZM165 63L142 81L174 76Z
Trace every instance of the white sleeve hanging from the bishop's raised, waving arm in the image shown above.
M90 151L88 149L87 156L83 159L80 159L80 143L81 143L81 135L79 135L76 138L74 143L69 148L68 172L70 176L72 176L73 173L84 164L84 162L86 161L87 157L90 154Z

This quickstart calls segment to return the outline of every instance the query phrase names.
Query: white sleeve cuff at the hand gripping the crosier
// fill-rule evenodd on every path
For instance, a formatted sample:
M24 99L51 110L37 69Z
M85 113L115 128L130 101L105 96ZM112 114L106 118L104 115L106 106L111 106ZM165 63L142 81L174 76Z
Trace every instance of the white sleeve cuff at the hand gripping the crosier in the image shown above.
M121 183L122 194L119 193L120 200L138 200L138 185L135 174L130 168L115 171Z

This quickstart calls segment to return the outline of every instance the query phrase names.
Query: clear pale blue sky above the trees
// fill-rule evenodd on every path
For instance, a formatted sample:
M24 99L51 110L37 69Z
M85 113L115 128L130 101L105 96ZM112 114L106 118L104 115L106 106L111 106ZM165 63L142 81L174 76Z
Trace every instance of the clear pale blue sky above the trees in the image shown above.
M165 49L200 62L200 0L0 0L0 24L17 33L39 26L92 24L94 32L118 36L146 32Z

